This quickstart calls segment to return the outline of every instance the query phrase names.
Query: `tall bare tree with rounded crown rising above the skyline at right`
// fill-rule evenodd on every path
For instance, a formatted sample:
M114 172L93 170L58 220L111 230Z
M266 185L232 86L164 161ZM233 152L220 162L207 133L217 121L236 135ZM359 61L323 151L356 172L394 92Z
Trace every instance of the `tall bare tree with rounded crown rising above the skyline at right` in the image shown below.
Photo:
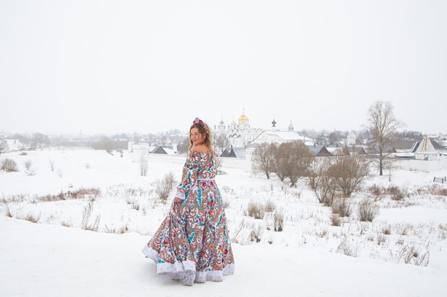
M378 168L383 175L383 160L389 155L387 148L391 145L398 129L403 123L396 119L393 105L388 101L377 101L368 109L368 132L372 144L377 146Z

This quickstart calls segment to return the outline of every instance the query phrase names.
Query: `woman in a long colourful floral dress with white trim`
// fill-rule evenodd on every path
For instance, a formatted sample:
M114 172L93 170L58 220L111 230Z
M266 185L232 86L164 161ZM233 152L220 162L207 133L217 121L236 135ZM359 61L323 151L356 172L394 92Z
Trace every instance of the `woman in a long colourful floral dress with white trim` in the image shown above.
M234 259L208 125L196 118L189 129L189 152L168 216L143 253L157 273L192 286L233 274Z

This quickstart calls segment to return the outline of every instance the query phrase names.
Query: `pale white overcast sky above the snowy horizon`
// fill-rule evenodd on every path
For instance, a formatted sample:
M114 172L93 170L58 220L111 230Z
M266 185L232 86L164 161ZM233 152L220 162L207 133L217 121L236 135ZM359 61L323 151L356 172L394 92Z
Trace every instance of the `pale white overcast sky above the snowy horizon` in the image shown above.
M447 133L447 1L0 0L0 132Z

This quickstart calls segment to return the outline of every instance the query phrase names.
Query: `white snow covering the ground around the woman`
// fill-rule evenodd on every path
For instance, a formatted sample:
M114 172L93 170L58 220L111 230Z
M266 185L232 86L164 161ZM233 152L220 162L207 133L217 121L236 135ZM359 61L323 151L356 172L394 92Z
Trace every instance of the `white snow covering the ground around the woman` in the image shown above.
M331 209L318 203L305 181L290 188L275 177L225 167L224 161L226 174L216 181L228 203L236 271L221 283L187 287L157 275L156 264L141 253L171 201L159 201L156 182L168 172L180 179L185 157L149 158L146 176L138 158L126 151L123 157L76 149L8 152L0 162L6 158L16 160L19 172L0 171L0 296L447 295L446 196L423 191L433 187L434 176L446 176L447 168L396 169L391 182L388 176L367 179L351 197L354 204L373 197L366 191L371 184L396 185L408 195L403 202L375 197L380 212L373 222L360 222L353 212L341 226L332 226ZM27 160L33 169L28 173ZM81 188L101 194L41 199ZM246 216L253 201L273 203L284 215L283 231L273 231L271 213L264 219ZM89 222L97 219L98 231L80 228L89 202L94 202ZM256 230L259 242L251 240ZM429 256L428 265L405 264L408 249L416 260Z

